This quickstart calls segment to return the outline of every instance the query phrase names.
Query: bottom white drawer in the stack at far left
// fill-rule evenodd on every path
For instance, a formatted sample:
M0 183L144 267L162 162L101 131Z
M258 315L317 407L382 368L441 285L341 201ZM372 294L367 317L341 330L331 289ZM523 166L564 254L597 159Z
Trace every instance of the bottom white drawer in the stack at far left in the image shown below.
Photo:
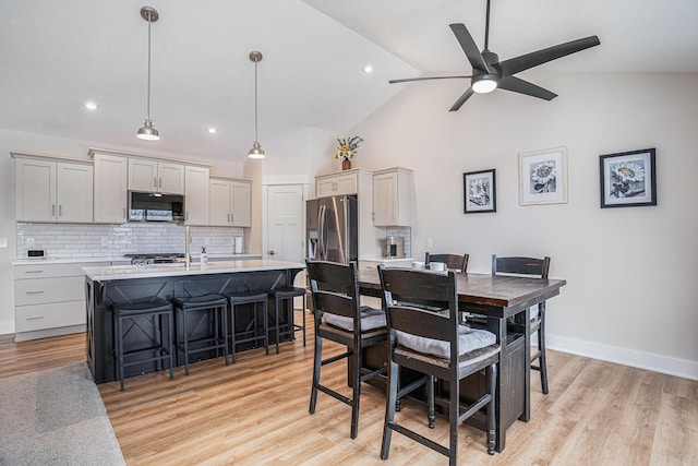
M85 300L20 306L14 309L14 322L17 333L84 325L86 322Z

